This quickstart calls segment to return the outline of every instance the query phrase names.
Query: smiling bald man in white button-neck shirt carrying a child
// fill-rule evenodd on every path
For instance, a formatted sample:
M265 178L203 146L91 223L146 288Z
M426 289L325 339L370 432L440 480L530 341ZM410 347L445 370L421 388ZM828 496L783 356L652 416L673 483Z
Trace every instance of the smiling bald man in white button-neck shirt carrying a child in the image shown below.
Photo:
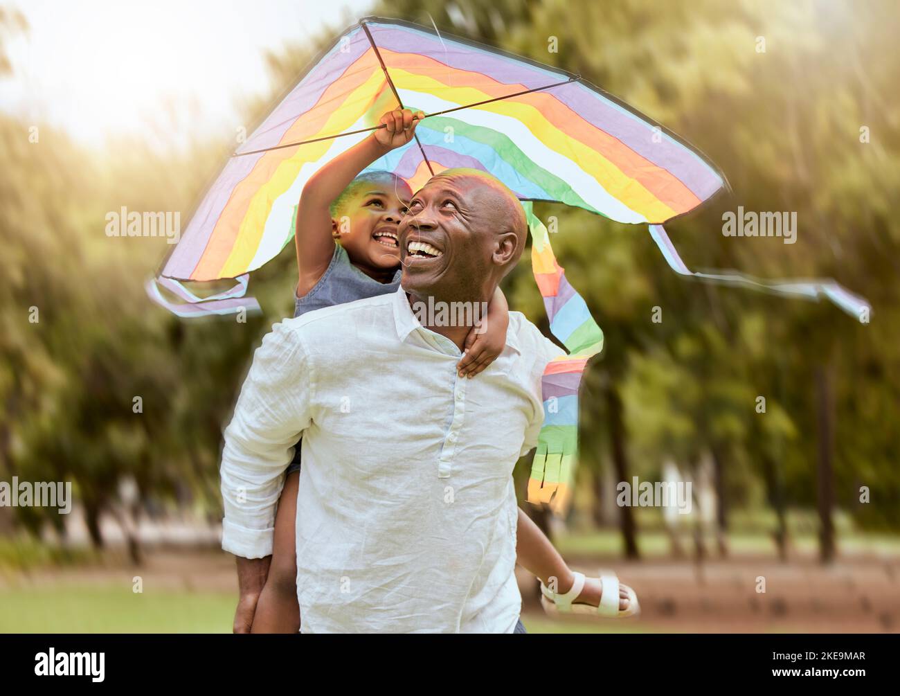
M397 232L397 293L283 321L257 350L225 432L222 547L250 597L302 435L302 632L512 633L512 469L536 445L541 375L563 351L509 312L500 357L466 380L455 366L471 327L412 307L488 302L522 253L525 213L492 177L451 169Z

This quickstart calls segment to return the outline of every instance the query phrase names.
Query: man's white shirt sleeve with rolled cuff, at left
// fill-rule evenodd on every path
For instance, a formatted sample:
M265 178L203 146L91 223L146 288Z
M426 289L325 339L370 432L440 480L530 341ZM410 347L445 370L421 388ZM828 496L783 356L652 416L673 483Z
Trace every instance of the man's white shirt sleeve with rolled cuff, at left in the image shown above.
M225 429L220 468L222 548L235 556L272 554L275 506L293 446L310 424L312 375L300 331L275 324Z

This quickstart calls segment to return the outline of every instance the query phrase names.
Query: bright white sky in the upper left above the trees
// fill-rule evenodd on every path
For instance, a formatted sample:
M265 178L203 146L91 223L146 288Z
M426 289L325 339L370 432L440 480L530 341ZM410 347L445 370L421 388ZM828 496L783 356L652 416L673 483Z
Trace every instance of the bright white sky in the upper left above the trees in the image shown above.
M0 37L13 76L0 109L50 122L87 145L111 135L232 137L240 104L269 95L267 48L338 32L371 14L370 0L0 0L28 20ZM189 121L185 123L185 121ZM177 133L169 133L176 140Z

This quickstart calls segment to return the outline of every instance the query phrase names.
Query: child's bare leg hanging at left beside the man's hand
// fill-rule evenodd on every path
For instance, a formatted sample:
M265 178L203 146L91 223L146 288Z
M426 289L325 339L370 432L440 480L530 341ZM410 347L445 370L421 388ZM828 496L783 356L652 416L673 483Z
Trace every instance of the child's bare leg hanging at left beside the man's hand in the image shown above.
M275 512L275 541L266 586L259 595L251 633L297 633L300 605L297 603L297 486L300 472L288 474Z

